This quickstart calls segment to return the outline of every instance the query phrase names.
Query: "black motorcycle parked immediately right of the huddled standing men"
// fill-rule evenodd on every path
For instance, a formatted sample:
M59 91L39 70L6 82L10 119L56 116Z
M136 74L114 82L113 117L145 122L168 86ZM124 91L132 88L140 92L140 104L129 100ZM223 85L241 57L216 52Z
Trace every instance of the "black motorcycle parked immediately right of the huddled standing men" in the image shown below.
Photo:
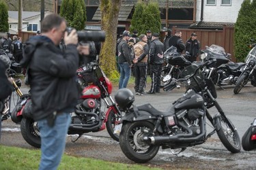
M162 67L160 72L160 87L169 84L172 78L178 79L182 69L191 65L191 62L187 60L188 56L188 53L181 55L174 46L171 46L165 51L164 61L167 65Z

